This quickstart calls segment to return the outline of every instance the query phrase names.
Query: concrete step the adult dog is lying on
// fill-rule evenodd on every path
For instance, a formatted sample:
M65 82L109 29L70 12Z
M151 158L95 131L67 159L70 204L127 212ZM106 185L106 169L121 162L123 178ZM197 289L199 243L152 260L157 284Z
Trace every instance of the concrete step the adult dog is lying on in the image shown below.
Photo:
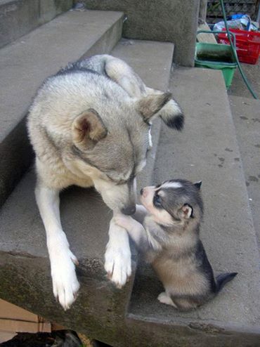
M149 86L165 90L173 48L167 43L124 40L112 54L131 63ZM147 177L152 176L152 162L154 157L150 155ZM28 172L0 211L1 298L112 346L127 346L129 332L124 315L136 258L131 280L124 289L116 289L103 270L111 218L108 207L93 190L71 188L61 196L62 223L79 259L77 273L82 284L77 301L65 313L52 294L44 226L34 201L34 180L34 172Z

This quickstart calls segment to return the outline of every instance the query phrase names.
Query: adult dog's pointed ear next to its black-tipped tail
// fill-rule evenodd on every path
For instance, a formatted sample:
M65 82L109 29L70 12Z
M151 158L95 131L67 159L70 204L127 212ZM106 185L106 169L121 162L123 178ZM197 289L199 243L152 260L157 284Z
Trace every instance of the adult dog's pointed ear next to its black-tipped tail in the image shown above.
M153 94L138 100L137 110L143 116L145 122L159 112L168 101L171 100L171 93Z

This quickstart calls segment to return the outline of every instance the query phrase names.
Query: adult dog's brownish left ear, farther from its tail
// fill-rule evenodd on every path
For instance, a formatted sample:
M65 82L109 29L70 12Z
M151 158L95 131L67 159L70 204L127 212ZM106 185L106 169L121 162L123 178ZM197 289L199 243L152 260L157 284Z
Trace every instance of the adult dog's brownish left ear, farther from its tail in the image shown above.
M82 150L93 148L107 133L98 112L91 108L79 114L72 123L73 143Z

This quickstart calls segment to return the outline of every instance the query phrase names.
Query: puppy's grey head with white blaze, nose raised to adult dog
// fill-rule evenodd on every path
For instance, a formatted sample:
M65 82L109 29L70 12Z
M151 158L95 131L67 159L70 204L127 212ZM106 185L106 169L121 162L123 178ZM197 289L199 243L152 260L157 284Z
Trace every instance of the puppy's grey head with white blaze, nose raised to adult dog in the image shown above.
M203 213L201 182L171 180L141 190L141 202L162 225L183 225L200 221Z

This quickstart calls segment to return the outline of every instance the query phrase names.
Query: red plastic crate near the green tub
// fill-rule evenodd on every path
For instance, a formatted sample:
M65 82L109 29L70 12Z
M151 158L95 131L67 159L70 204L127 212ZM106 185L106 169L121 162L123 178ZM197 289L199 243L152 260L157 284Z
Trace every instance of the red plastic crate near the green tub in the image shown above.
M235 34L238 60L241 63L256 64L260 54L260 32L235 29L229 31ZM218 42L219 44L229 44L228 34L219 34Z

